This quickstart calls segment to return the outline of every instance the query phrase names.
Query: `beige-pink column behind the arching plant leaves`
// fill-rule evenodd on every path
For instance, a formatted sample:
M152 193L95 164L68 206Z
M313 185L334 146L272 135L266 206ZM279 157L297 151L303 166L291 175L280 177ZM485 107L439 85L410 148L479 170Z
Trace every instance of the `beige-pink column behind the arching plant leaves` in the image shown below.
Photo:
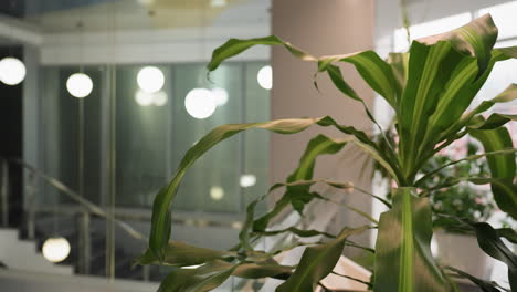
M272 31L273 34L317 56L372 49L373 3L373 0L274 0ZM299 61L278 46L272 51L272 64L273 118L330 115L342 125L371 131L372 125L365 115L362 106L335 90L327 76L319 76L319 92L315 88L313 84L317 69L315 63ZM360 80L351 65L345 65L342 69L346 80L371 106L372 91ZM306 143L317 133L326 133L330 137L345 137L336 131L317 127L297 135L273 135L270 164L272 182L286 179L295 169ZM357 149L347 146L339 156L319 159L315 177L354 181L357 186L370 189L369 163L362 158ZM344 194L344 196L347 196L347 204L367 212L370 210L371 201L368 197L357 194ZM362 223L366 223L362 218L342 210L335 222L335 231L344 226ZM365 236L358 241L368 242L368 237Z

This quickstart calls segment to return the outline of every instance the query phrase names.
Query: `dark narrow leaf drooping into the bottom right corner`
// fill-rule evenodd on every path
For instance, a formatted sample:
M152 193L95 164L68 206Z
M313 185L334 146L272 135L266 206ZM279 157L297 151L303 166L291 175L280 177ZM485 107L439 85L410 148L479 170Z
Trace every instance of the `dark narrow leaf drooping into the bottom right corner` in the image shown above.
M517 254L513 253L500 240L497 231L488 223L473 223L477 243L492 258L508 267L508 282L511 291L517 291Z

